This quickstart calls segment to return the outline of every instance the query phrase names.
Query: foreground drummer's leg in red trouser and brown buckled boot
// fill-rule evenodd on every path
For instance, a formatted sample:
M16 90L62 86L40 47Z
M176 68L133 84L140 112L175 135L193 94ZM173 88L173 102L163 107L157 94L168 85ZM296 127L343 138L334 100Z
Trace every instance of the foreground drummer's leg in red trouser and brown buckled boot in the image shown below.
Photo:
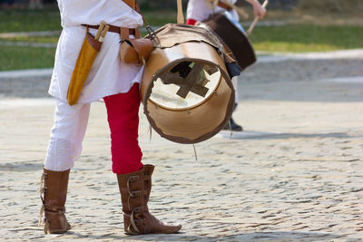
M154 166L142 165L138 143L139 85L127 93L103 98L111 131L113 172L117 175L123 204L126 234L169 234L182 226L165 225L149 212L147 203L152 189Z

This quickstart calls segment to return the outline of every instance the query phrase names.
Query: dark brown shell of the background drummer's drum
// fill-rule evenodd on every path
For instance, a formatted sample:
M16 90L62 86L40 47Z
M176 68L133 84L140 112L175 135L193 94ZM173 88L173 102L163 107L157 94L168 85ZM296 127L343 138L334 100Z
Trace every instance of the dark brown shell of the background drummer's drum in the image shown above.
M211 32L220 38L226 53L237 61L242 70L256 62L256 53L249 38L225 15L213 14L203 21L203 24L206 24Z

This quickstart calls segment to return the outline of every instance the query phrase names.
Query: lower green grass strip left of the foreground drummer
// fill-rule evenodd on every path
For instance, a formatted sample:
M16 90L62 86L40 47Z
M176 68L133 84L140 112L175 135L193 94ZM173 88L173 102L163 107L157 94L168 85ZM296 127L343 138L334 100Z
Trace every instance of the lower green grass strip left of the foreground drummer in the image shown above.
M0 46L0 71L51 68L55 48Z

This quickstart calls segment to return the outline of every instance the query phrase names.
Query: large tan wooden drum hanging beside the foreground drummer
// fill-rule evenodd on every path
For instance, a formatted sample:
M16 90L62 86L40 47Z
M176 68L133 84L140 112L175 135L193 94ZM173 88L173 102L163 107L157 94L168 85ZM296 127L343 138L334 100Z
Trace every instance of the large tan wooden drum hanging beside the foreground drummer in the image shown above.
M231 118L234 90L221 43L205 28L167 24L144 67L143 111L163 138L197 143L221 131Z

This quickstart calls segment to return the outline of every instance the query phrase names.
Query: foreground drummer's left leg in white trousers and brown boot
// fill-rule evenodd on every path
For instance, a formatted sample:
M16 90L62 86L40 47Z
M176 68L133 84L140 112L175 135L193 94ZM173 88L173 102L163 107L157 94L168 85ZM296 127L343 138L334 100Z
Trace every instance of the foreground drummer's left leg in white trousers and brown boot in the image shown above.
M42 211L44 232L64 233L71 228L65 218L65 200L70 169L81 154L90 104L70 106L56 101L54 126L44 162L42 175Z

